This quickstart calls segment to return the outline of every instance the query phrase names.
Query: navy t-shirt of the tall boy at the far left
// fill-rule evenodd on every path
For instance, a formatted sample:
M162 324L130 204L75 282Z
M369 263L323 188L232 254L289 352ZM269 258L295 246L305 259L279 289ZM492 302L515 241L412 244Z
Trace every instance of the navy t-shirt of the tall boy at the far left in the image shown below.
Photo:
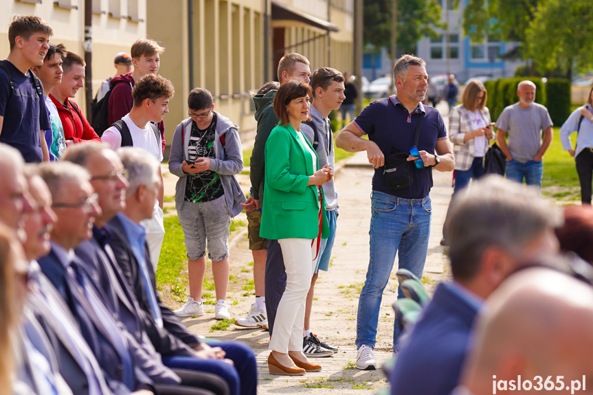
M45 110L45 96L40 99L37 94L30 76L33 71L23 74L8 60L5 63L12 73L14 90L10 91L6 71L0 69L0 116L4 117L0 142L19 150L26 162L41 162L40 131L52 128Z

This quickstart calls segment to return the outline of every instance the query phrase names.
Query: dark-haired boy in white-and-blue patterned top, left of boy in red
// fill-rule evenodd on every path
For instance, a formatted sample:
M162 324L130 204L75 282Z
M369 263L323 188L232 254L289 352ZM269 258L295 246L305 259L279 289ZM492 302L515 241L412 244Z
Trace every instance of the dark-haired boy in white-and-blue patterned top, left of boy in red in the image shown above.
M43 94L45 95L45 110L49 115L51 129L45 131L45 141L49 149L49 160L55 161L66 149L66 139L64 137L64 128L56 104L49 98L49 93L53 87L62 83L62 59L66 57L66 47L62 44L54 45L49 43L49 49L43 59L43 65L33 66L31 70L35 73L43 85Z

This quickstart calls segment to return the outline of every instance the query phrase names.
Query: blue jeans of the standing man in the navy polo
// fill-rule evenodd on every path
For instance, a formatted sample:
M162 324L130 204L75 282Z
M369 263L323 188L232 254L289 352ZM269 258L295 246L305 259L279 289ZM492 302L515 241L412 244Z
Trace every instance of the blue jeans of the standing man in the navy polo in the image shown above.
M382 192L372 192L370 218L370 260L366 281L358 303L356 346L374 348L383 290L389 281L395 255L399 250L399 268L422 278L432 205L424 199L401 199ZM401 288L397 290L402 297ZM394 346L396 336L394 336Z

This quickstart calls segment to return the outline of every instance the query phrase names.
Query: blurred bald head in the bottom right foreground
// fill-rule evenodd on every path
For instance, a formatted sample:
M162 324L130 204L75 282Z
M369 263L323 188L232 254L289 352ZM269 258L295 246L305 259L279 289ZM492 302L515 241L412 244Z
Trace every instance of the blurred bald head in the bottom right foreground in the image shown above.
M564 273L512 275L489 298L475 332L462 382L476 395L493 394L493 380L518 375L564 376L566 385L583 374L593 379L593 288Z

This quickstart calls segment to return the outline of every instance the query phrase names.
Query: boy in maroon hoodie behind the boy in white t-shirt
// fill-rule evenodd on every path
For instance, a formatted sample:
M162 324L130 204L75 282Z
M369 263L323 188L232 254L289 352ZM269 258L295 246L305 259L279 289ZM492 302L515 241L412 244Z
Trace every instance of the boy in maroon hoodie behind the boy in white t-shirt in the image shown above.
M134 71L114 77L111 80L111 95L107 103L107 122L110 125L121 120L131 111L134 105L132 99L134 84L146 74L157 74L159 72L161 54L164 50L156 41L148 38L139 38L133 43L130 53ZM165 124L161 121L157 126L161 131L161 149L165 152Z

